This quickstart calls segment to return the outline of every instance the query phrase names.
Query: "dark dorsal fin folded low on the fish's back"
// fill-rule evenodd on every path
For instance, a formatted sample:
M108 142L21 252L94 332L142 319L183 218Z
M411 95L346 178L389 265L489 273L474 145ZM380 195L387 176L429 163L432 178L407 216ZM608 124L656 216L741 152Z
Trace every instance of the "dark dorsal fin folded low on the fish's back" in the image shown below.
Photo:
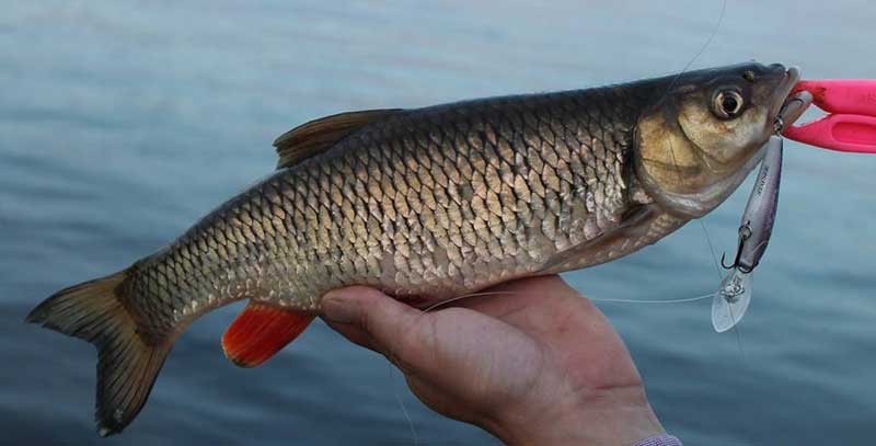
M274 141L280 157L277 169L295 165L332 147L355 129L401 111L402 108L379 108L338 113L292 128Z

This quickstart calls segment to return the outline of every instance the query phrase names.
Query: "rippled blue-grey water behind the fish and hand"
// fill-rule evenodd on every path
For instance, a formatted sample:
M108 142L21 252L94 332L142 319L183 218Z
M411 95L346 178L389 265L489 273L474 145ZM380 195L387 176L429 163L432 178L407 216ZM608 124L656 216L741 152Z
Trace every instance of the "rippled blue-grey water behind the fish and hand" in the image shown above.
M325 3L2 2L2 443L413 444L396 391L420 444L497 443L423 407L382 357L321 322L261 368L232 366L219 339L239 306L196 322L140 416L99 442L93 348L22 323L50 293L161 247L269 172L270 141L297 124L666 73L698 53L721 11L717 1ZM808 78L874 78L875 18L865 1L730 1L694 67L753 58ZM874 169L876 157L786 144L776 229L738 338L713 333L708 300L600 305L667 430L689 445L872 438ZM705 219L718 251L734 250L749 191ZM565 277L616 299L692 297L718 283L695 222Z

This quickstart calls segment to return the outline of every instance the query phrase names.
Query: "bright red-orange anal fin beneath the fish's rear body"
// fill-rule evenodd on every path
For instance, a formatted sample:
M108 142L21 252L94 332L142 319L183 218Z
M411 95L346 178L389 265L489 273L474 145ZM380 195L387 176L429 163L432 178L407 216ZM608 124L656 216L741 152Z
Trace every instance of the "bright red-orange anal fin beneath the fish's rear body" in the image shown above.
M232 363L255 367L292 342L313 318L309 312L250 301L222 335L222 350Z

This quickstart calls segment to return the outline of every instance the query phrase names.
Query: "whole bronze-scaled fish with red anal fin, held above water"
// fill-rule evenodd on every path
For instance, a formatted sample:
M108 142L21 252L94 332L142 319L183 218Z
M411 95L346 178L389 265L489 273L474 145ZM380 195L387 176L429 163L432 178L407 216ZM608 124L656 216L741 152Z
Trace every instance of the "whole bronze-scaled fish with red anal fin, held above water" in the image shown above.
M222 347L252 367L334 288L367 285L423 307L655 243L745 180L798 79L746 62L319 118L276 139L268 176L26 321L95 345L97 433L116 434L180 334L232 301L249 304Z

